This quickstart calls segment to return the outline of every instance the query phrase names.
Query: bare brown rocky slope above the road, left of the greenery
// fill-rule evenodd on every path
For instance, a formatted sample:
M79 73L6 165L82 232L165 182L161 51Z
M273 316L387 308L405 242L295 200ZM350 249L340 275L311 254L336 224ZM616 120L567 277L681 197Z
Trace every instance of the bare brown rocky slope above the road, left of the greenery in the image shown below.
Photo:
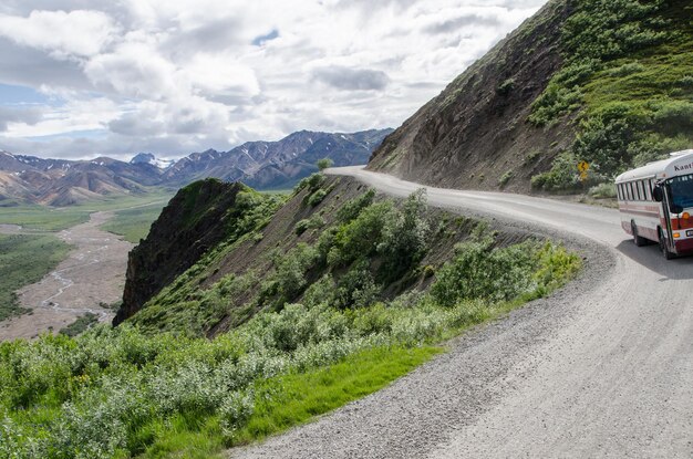
M570 126L526 124L531 103L560 67L560 24L570 13L551 1L453 81L385 138L369 168L454 188L496 188L511 170L527 189L551 155L525 161L531 149L556 153ZM552 145L556 138L558 145Z

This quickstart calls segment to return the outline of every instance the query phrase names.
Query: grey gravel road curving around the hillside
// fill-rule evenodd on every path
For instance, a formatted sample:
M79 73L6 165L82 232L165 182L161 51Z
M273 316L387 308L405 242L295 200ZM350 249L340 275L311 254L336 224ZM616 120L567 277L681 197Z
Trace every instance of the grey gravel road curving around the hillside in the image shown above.
M231 457L693 457L693 258L634 247L616 210L435 188L428 201L560 237L586 272L389 388Z

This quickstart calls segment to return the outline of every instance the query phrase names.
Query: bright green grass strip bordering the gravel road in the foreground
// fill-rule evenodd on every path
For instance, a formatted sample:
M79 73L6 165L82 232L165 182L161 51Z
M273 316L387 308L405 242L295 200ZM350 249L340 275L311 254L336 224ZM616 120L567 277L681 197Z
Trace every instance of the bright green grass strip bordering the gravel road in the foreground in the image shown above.
M157 425L153 429L156 440L141 457L219 457L224 447L262 440L373 394L443 351L434 346L374 347L328 367L266 379L255 388L254 414L242 428L226 432L226 440L218 417L197 423L197 431L178 418L170 428Z

